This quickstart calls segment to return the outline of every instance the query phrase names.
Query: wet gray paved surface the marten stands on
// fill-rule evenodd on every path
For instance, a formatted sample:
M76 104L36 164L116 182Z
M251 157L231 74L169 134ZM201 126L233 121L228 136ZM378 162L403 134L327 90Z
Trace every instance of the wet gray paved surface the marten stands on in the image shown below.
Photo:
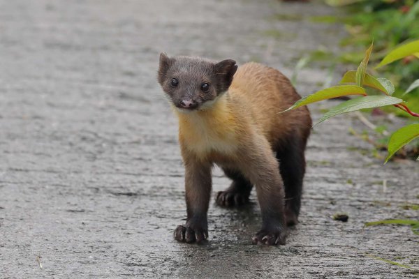
M0 278L414 278L383 259L419 270L418 236L363 226L418 218L402 208L419 203L418 163L383 166L349 135L365 127L348 115L309 140L286 246L251 244L256 193L241 210L211 204L207 244L172 236L186 216L184 174L159 53L260 61L289 76L304 54L337 51L344 27L310 20L335 13L316 1L1 0ZM298 91L326 75L309 65ZM311 106L313 118L335 104ZM214 176L214 193L228 186ZM339 212L347 223L332 220Z

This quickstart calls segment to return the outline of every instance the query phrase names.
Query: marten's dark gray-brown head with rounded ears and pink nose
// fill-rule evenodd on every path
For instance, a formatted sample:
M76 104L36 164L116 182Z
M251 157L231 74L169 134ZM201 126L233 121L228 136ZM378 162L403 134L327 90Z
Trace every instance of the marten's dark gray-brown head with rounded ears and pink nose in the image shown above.
M217 63L162 53L157 79L173 105L190 112L211 107L228 90L236 70L236 62L230 59Z

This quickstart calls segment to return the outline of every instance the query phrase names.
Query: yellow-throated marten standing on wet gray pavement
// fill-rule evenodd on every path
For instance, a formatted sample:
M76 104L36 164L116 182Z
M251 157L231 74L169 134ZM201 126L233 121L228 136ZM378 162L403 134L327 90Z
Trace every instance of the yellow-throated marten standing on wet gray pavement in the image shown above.
M215 163L233 180L216 203L244 204L255 185L263 224L253 243L284 244L286 225L297 223L300 212L311 129L307 107L279 114L300 99L289 80L259 63L237 68L229 59L166 54L160 55L158 80L179 118L185 165L187 220L175 239L207 239Z

